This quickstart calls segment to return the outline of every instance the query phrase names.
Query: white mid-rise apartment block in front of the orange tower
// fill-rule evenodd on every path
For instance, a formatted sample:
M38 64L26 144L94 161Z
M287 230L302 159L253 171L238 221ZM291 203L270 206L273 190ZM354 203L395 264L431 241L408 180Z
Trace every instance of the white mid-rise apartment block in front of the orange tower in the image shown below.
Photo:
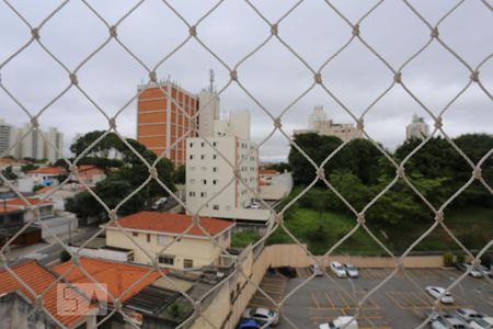
M214 137L206 137L210 145L200 137L186 139L188 213L198 211L200 215L218 218L266 220L268 211L250 208L255 195L249 189L259 192L259 154L250 141L249 113L240 111L232 113L228 121L217 120L214 131ZM245 184L239 179L231 182L234 172L228 162L238 168Z

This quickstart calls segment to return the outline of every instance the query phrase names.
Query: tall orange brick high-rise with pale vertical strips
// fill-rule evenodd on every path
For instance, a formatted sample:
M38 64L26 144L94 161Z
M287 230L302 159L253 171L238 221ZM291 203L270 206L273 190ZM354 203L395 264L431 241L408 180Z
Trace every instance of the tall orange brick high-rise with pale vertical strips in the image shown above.
M198 109L197 95L172 82L139 87L137 104L137 140L160 156L170 159L175 168L185 164L186 137L196 137L191 117ZM180 139L182 138L182 139Z

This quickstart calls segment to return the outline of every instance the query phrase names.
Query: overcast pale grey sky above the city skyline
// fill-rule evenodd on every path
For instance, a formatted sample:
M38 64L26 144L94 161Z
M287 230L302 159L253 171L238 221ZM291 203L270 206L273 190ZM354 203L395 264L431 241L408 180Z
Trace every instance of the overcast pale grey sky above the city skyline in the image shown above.
M54 0L15 0L12 5L32 26L60 5ZM87 1L110 25L114 25L138 1ZM435 25L456 3L449 0L410 1ZM217 1L168 1L191 24L209 11ZM293 8L291 0L251 0L271 22L276 22ZM378 1L331 1L351 22L357 22ZM492 2L490 1L490 5ZM492 11L480 0L463 1L439 24L439 36L471 67L477 67L493 53ZM429 41L429 29L401 0L386 0L360 22L360 36L393 68L402 66ZM160 0L146 0L117 27L119 41L147 67L154 67L188 36L188 27ZM271 34L270 25L248 1L225 0L197 25L197 35L229 67L260 46ZM108 36L105 24L82 1L69 1L39 30L41 42L69 70L74 70ZM278 25L282 42L271 38L259 52L238 67L244 88L270 111L283 115L283 128L308 127L308 115L314 105L323 105L328 117L351 123L352 117L320 86L301 99L313 83L313 75L289 52L288 45L316 71L352 36L352 29L323 0L299 3ZM0 2L0 75L1 83L31 113L37 113L69 86L67 72L36 43L12 60L5 60L31 38L31 31L19 16ZM286 44L286 45L285 45ZM170 79L182 88L198 93L208 86L209 69L221 90L229 71L196 39L190 39L157 69L159 79ZM358 39L353 41L321 71L331 92L356 116L359 116L388 87L393 75ZM118 132L136 137L137 86L147 83L145 68L115 41L91 57L78 70L79 86L110 116L117 117ZM405 86L435 114L439 113L468 83L467 68L434 41L402 69ZM482 65L480 79L493 93L493 58ZM134 101L131 101L134 99ZM252 139L256 143L272 132L273 123L264 111L236 83L220 94L221 112L249 110ZM130 102L131 101L131 102ZM127 104L127 106L125 106ZM124 107L125 106L125 107ZM393 87L365 115L366 132L385 147L394 149L405 137L405 125L413 114L429 115L400 86ZM27 115L0 90L0 118L23 125ZM70 88L41 115L43 128L58 127L65 143L71 144L77 133L106 129L104 116L76 88ZM473 83L444 114L444 129L450 136L466 133L493 134L492 100ZM263 161L285 160L289 143L276 132L260 148Z

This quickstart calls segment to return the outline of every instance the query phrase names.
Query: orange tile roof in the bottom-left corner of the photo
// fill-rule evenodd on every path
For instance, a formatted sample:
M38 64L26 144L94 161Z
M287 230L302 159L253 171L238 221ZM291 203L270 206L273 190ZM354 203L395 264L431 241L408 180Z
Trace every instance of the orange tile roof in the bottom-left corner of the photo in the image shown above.
M27 286L34 291L36 295L44 293L44 291L57 280L55 274L43 268L34 260L11 266L11 269ZM12 276L10 272L7 270L0 270L0 294L9 294L15 291L22 292L28 299L35 302L35 297L31 294L31 292L28 292L14 276ZM82 319L81 316L58 315L57 285L54 285L48 290L43 300L48 313L67 327L76 325Z

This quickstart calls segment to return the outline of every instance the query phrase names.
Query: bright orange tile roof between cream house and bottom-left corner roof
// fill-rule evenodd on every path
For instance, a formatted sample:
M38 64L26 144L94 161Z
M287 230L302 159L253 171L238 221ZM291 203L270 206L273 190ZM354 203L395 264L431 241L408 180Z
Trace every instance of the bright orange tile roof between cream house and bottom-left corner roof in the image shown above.
M71 265L72 262L69 261L54 266L53 270L61 275L67 272ZM107 291L112 294L112 296L115 298L121 298L122 302L131 298L131 296L138 294L141 290L150 285L157 279L161 277L161 274L156 270L146 276L150 270L148 266L118 263L101 259L80 258L80 265L96 282L106 284ZM168 271L162 270L162 272L168 274ZM93 283L93 281L85 276L79 268L73 268L72 271L65 276L65 280L71 283ZM139 281L139 283L134 285L137 281ZM122 296L122 294L129 286L133 287ZM107 302L112 302L110 296Z

